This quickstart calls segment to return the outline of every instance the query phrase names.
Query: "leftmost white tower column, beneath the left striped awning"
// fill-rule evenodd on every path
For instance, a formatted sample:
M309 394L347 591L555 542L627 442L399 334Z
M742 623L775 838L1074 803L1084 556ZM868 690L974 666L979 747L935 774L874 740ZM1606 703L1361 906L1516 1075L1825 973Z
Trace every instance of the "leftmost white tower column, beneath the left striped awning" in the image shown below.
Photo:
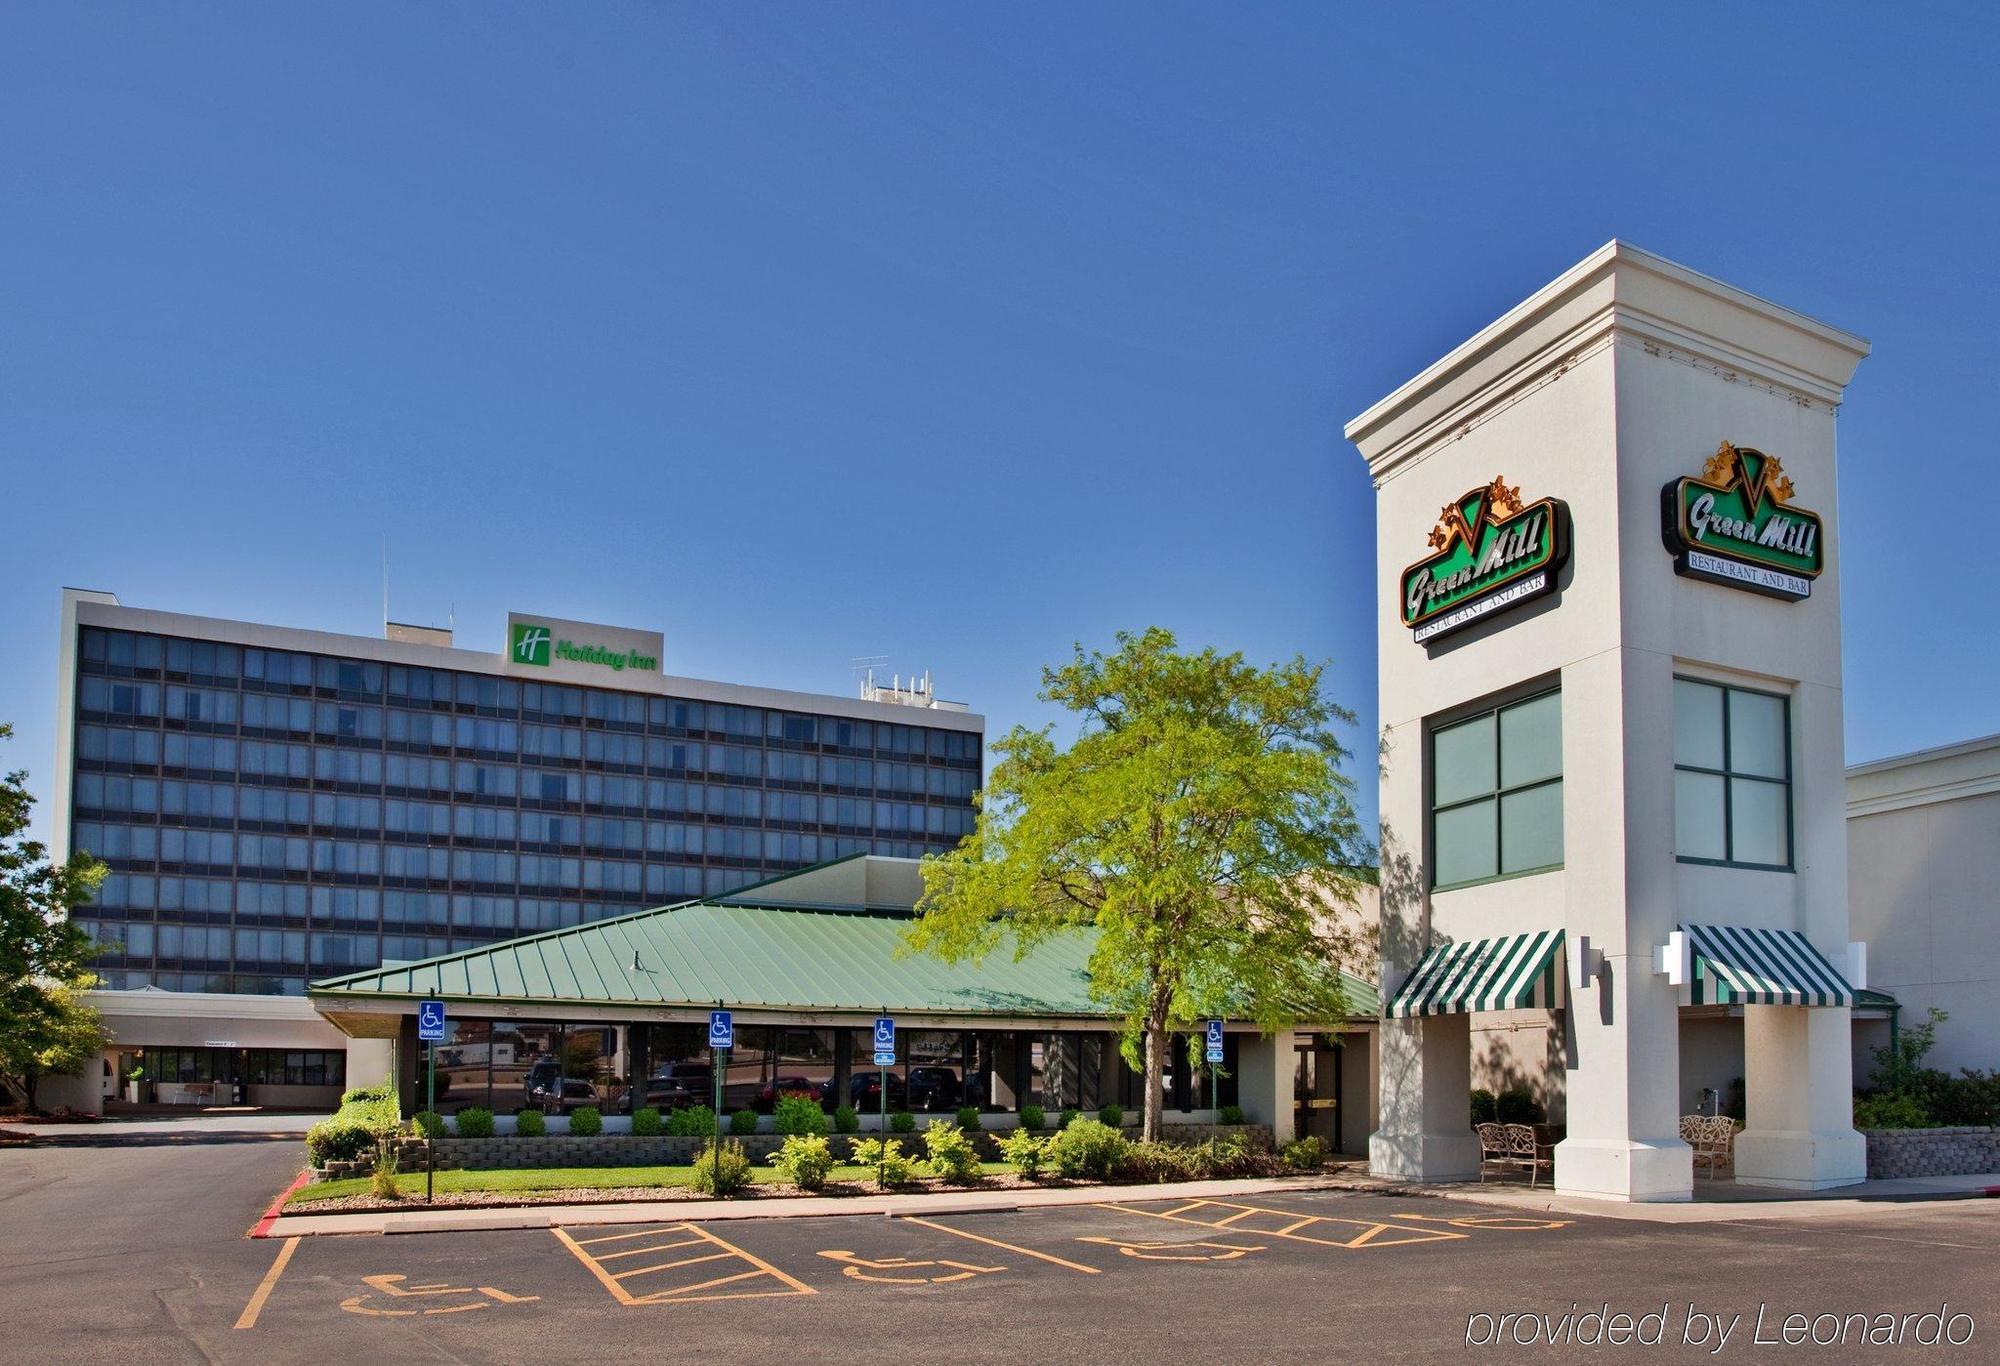
M1384 1020L1382 1120L1368 1136L1368 1172L1448 1182L1480 1174L1472 1134L1472 1016Z

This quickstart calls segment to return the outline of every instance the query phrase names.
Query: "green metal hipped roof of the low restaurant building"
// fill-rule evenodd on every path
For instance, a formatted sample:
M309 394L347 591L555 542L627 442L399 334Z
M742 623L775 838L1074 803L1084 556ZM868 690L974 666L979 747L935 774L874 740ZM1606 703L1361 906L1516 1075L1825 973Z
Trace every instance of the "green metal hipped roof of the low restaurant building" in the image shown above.
M1046 940L1018 962L1000 946L980 962L948 964L898 956L908 924L900 912L690 902L326 978L310 994L324 1006L436 992L454 1002L532 1006L1112 1014L1090 998L1094 930ZM1370 984L1348 976L1346 988L1352 1014L1376 1012Z

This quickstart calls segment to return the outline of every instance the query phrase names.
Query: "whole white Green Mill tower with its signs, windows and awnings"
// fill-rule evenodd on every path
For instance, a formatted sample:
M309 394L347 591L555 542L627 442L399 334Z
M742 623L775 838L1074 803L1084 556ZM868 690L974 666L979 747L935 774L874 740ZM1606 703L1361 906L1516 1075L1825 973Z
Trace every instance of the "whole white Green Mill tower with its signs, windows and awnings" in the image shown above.
M1376 486L1382 1112L1476 1172L1470 1012L1560 1012L1558 1188L1684 1200L1680 1008L1746 1182L1862 1180L1834 416L1868 344L1612 242L1348 424Z

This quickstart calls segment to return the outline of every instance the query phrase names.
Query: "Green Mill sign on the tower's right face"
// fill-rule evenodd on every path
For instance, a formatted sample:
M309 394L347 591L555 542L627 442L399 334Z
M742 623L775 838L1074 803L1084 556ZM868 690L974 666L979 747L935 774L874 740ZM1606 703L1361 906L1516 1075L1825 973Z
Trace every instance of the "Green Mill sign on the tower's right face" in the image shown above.
M1660 532L1674 570L1796 602L1826 568L1826 526L1792 504L1778 456L1722 442L1700 478L1660 490Z

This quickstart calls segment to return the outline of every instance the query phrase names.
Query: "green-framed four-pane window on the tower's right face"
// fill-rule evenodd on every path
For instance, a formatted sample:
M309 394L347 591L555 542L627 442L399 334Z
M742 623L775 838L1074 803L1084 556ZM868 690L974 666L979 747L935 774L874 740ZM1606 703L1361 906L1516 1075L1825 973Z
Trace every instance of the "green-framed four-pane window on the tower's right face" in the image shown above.
M1792 716L1768 692L1674 680L1674 854L1792 866Z

